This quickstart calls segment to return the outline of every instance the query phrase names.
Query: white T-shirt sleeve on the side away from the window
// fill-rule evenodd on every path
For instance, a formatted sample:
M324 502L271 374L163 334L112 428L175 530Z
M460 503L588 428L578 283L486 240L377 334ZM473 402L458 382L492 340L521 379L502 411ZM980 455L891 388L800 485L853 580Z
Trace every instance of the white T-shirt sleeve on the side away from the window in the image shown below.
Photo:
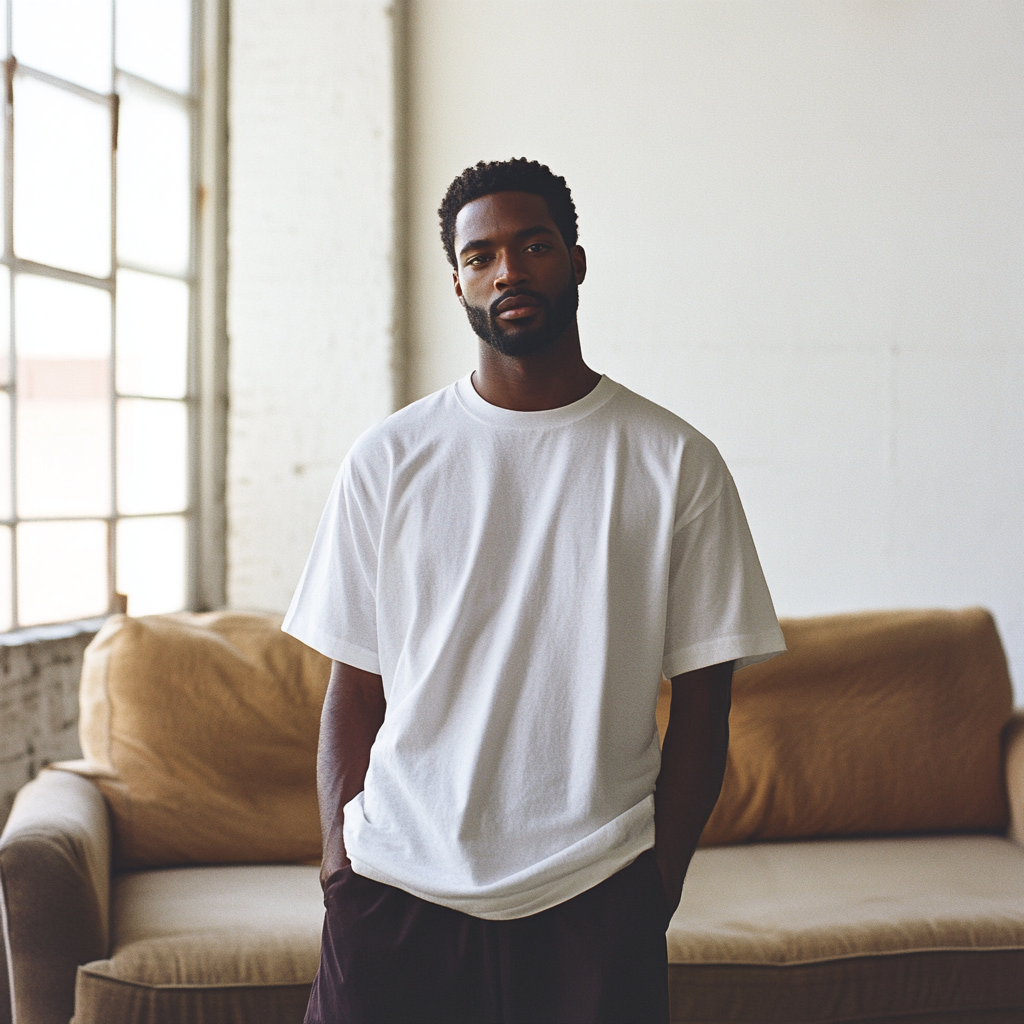
M785 650L739 495L728 471L718 496L672 543L666 678L722 662L741 669Z

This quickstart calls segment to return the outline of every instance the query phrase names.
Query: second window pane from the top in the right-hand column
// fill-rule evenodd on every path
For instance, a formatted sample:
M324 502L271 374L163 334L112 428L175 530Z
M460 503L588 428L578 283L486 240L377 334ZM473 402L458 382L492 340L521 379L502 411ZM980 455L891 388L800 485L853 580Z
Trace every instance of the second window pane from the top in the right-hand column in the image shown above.
M126 263L188 269L188 115L120 83L118 256Z

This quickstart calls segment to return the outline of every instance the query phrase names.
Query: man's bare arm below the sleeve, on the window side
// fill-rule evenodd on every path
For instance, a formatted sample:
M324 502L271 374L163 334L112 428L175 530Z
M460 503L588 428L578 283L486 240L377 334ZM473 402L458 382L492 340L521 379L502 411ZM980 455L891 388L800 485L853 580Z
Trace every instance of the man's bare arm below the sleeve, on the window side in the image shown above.
M325 888L327 880L348 863L343 809L362 792L370 748L384 722L385 708L380 676L342 662L331 664L316 749L316 799L324 840L321 886Z

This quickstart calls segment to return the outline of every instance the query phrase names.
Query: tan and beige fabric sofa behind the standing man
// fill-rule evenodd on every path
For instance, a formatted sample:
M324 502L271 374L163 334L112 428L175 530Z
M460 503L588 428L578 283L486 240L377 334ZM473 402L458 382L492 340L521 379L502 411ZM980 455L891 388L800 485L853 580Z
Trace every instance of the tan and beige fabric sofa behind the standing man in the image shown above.
M673 1020L1024 1020L1024 717L990 616L783 629L790 653L736 676ZM85 760L26 786L0 838L17 1024L302 1020L327 672L270 616L108 623Z

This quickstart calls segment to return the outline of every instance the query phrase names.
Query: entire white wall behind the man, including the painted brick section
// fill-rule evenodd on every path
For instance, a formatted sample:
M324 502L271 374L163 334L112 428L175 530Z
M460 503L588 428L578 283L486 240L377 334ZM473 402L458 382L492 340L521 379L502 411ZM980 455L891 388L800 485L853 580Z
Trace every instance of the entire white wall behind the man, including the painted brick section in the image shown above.
M1024 687L1024 6L409 12L406 381L390 5L232 3L230 603L283 608L354 437L472 366L434 211L528 155L589 359L718 442L780 612L984 604Z

